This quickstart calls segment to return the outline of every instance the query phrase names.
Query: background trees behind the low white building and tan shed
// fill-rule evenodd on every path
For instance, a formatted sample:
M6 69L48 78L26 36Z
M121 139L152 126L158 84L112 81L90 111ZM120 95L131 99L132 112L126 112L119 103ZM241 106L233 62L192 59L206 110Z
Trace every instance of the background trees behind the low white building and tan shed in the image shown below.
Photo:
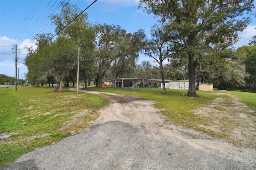
M198 58L196 79L200 82L213 83L217 89L256 92L256 45L223 50L218 55L204 55ZM169 61L164 65L164 77L188 79L188 67L183 64L174 59ZM122 75L126 76L129 75ZM161 79L158 69L150 61L137 64L130 77Z

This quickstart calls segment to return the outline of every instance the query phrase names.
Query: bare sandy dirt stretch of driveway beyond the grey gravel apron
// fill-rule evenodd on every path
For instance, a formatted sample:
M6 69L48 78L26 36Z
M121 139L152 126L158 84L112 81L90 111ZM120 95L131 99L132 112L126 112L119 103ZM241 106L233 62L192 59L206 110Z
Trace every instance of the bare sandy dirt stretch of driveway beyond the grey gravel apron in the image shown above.
M92 125L101 125L109 121L123 121L135 125L141 125L146 130L154 134L163 134L166 136L177 138L182 142L186 142L194 148L218 150L218 152L221 149L221 152L223 153L229 152L229 150L233 149L232 146L227 146L226 144L223 144L223 140L214 138L212 136L204 134L203 132L199 132L193 129L186 129L182 126L170 125L169 118L158 113L158 111L160 110L154 108L153 101L129 95L102 93L98 91L80 90L80 92L103 95L112 101L109 106L106 106L100 110L100 117L96 121L92 122ZM111 95L115 97L111 97ZM217 98L216 100L218 101L220 99ZM222 102L223 101L220 100L218 107ZM211 109L216 101L214 100L210 103L213 103L212 105L209 105ZM202 114L206 113L206 110L209 110L209 108L198 108L196 111L194 111L194 113Z

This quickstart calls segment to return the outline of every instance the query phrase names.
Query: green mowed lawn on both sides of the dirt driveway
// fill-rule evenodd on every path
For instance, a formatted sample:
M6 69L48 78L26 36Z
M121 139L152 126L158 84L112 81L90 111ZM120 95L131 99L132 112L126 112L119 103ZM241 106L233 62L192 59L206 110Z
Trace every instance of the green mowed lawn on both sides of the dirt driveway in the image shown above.
M21 154L88 128L98 110L108 105L106 97L88 93L76 94L63 88L54 93L52 87L0 88L0 133L7 135L0 142L0 167L13 163ZM206 130L198 125L211 123L206 117L193 114L193 110L216 98L220 92L199 92L200 98L184 97L187 91L158 88L90 87L86 90L126 94L155 101L154 106L170 118L172 124L200 130L224 138L226 134ZM232 92L241 101L256 110L256 94Z

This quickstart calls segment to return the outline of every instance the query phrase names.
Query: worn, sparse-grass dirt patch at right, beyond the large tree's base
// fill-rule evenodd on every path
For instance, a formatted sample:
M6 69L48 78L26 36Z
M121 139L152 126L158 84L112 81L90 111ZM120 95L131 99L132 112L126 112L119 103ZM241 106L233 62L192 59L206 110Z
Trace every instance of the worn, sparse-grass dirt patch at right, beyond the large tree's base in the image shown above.
M212 119L214 124L200 126L228 134L225 140L236 146L256 148L254 110L228 92L218 93L218 97L206 105L197 108L193 113Z

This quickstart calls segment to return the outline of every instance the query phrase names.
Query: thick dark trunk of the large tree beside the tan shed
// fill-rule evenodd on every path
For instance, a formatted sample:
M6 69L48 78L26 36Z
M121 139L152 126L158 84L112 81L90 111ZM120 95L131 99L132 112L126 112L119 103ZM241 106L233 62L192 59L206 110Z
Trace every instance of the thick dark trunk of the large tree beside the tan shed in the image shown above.
M194 56L190 53L188 54L188 75L189 75L189 83L188 83L188 97L198 97L196 95L196 62L194 60Z

